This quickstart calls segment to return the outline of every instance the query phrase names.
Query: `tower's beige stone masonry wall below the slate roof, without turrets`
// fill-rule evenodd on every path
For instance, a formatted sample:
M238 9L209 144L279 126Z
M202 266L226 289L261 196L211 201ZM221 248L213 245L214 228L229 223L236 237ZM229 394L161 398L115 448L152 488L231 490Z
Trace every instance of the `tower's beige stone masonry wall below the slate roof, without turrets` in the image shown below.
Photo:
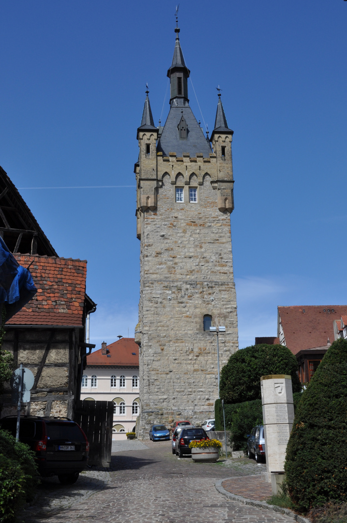
M214 416L217 347L203 331L205 314L226 326L221 368L238 349L230 215L218 210L217 173L206 174L202 158L205 174L197 161L188 169L171 153L168 160L157 158L157 208L141 212L140 437L152 423ZM175 184L184 187L183 203L175 201ZM198 189L197 203L189 203L189 187Z

